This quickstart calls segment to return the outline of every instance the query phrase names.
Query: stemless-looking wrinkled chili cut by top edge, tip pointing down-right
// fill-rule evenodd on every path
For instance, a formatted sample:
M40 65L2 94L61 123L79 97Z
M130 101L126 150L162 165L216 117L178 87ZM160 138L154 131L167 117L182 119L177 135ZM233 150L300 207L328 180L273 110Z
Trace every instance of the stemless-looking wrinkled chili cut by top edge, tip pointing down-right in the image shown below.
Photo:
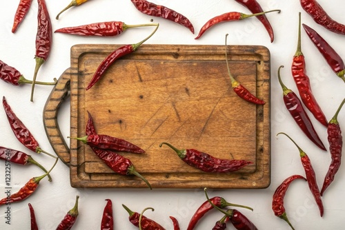
M184 15L176 12L175 10L169 9L166 6L159 6L155 3L146 1L146 0L130 0L132 1L133 5L137 10L140 12L153 16L153 17L161 17L163 19L168 19L175 23L179 23L180 25L184 25L184 27L188 28L190 32L194 34L193 24L184 17Z

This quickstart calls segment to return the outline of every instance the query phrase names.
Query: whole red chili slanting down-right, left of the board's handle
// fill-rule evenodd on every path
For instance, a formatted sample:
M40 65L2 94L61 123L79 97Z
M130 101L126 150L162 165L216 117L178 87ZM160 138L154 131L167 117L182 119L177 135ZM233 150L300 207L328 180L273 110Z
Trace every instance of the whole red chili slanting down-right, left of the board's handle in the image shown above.
M10 123L10 127L12 128L12 131L14 133L14 136L17 137L20 143L22 143L25 147L28 149L37 152L37 154L40 154L41 152L43 154L47 154L48 156L51 156L53 158L56 158L56 156L52 156L52 154L49 154L46 151L43 151L41 147L39 147L39 143L37 140L32 136L29 129L21 122L21 120L17 117L16 114L12 111L10 105L8 105L5 96L2 98L3 108L5 109L8 122Z

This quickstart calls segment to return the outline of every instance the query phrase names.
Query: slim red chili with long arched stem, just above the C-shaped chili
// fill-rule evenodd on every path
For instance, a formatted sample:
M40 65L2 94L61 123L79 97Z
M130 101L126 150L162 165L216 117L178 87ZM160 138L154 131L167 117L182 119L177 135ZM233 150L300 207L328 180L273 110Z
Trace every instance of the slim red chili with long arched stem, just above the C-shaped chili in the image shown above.
M299 150L299 156L301 158L302 166L304 168L304 171L306 172L306 181L308 182L308 187L309 189L311 189L311 193L315 198L317 207L319 207L320 216L324 216L324 205L322 204L319 187L317 186L315 171L313 169L313 165L311 165L311 160L309 159L308 155L297 145L297 143L295 143L295 140L288 136L288 134L280 132L277 135L279 134L284 134L285 136L287 136Z

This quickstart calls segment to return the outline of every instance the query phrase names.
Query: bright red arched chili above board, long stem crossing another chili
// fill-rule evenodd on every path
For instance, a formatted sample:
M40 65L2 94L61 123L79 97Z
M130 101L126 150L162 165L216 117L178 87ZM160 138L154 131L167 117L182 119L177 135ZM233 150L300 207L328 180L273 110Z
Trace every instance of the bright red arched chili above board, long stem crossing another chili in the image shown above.
M213 27L213 25L217 25L218 23L221 23L224 21L239 21L239 20L247 19L249 17L259 16L262 14L266 14L269 12L275 12L275 11L280 12L280 10L270 10L270 11L266 11L266 12L259 12L257 14L244 14L241 12L226 12L224 14L218 15L218 16L213 17L212 19L208 20L202 26L201 30L199 31L199 34L197 35L197 37L195 37L195 39L199 39L199 37L202 36L202 34L204 34L204 32L206 32L206 30Z

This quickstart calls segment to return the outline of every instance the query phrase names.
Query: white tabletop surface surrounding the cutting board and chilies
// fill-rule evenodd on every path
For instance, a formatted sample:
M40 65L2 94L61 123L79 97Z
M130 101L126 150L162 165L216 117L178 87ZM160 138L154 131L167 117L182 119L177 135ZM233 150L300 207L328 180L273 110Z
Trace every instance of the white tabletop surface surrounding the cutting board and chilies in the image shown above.
M153 0L152 0L153 1ZM195 27L195 35L181 25L153 18L160 23L159 30L146 43L151 44L190 44L190 45L224 45L224 34L228 33L228 43L234 45L265 45L271 54L271 134L272 134L272 176L267 189L219 189L209 191L210 196L222 196L229 202L253 207L254 211L244 213L252 220L258 229L290 229L283 220L275 217L271 209L273 192L288 176L304 175L304 169L299 160L299 152L293 143L285 136L276 138L278 132L286 132L292 136L300 147L311 158L317 174L317 182L322 187L324 175L331 161L329 151L322 151L313 145L294 123L282 101L282 88L277 81L277 68L282 69L283 81L291 90L297 92L295 83L290 75L290 65L297 45L298 12L302 12L302 22L311 26L321 34L328 43L345 59L345 36L328 32L317 25L311 17L302 10L299 1L260 0L264 10L280 9L267 15L275 32L275 41L270 39L263 25L255 18L244 21L222 23L195 40L195 36L208 19L224 12L239 11L250 13L244 6L231 0L155 0L154 3L172 8L190 19ZM15 34L12 34L14 12L19 1L0 0L0 60L16 67L27 79L32 79L34 72L34 39L37 32L37 1L32 6L26 19L21 23ZM69 0L47 0L48 10L52 20L53 30L66 26L82 25L101 21L124 21L128 24L149 23L152 17L138 12L130 0L93 0L61 14L57 13L67 6ZM333 19L345 23L344 2L340 0L319 0L324 10ZM52 52L43 64L38 81L52 81L59 78L64 70L70 66L70 47L78 43L137 43L146 37L149 28L132 29L121 36L99 38L53 34ZM339 103L344 98L344 82L333 74L326 61L319 54L313 43L302 30L302 51L306 56L307 72L311 78L313 92L322 107L328 121L335 113ZM46 151L52 152L44 131L42 112L52 87L37 85L34 92L34 103L30 102L30 85L19 87L0 81L0 96L6 96L14 112L30 129L39 144ZM69 135L70 108L69 103L62 105L59 113L59 125L63 136ZM310 113L309 113L310 114ZM246 117L244 116L244 119ZM319 133L324 145L328 149L326 128L317 123L311 116L315 129ZM345 129L345 111L338 117L340 127ZM240 129L241 127L239 127ZM46 168L50 168L54 160L48 156L34 154L23 147L14 137L6 114L0 109L0 145L26 151ZM5 163L0 162L0 197L4 197ZM21 167L12 164L12 192L17 191L33 176L40 176L42 171L33 165ZM99 229L106 198L113 202L115 215L115 229L137 229L128 222L128 213L121 207L125 204L133 211L141 211L145 207L155 208L154 212L147 211L146 216L157 220L166 229L172 229L169 216L175 216L180 222L181 229L186 229L190 217L197 207L204 202L202 189L75 189L70 187L69 170L59 162L51 173L53 182L41 180L37 191L28 200L10 205L11 224L6 224L6 207L0 207L0 229L30 229L30 215L28 202L36 212L39 229L55 229L60 220L72 208L75 196L79 195L79 217L73 229ZM335 181L324 194L325 213L320 218L315 200L308 190L306 182L296 181L288 189L285 207L290 221L295 229L342 229L345 223L345 167L339 169ZM241 209L242 210L242 209ZM197 229L212 229L222 214L216 211L205 216ZM228 229L233 229L228 224Z

